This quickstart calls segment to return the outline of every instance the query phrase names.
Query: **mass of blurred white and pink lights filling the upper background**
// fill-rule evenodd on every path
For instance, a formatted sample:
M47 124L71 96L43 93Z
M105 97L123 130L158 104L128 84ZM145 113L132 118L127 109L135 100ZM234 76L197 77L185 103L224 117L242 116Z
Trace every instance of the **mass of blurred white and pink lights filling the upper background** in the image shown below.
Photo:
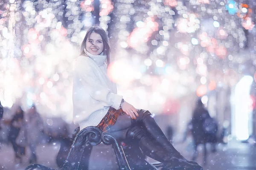
M179 101L195 91L205 96L217 85L232 87L243 74L256 81L253 6L245 2L102 0L99 9L94 0L2 3L4 106L18 100L24 108L36 103L47 117L72 121L73 64L96 22L111 42L108 75L139 107L160 113L169 99Z

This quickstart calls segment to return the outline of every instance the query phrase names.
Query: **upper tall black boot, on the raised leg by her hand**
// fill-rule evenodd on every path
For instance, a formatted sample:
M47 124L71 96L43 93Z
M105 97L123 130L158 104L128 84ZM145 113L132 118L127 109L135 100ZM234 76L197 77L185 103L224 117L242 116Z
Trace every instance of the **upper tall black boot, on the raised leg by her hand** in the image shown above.
M137 111L139 113L139 117L137 117L137 119L132 119L133 125L136 125L139 123L143 127L145 127L147 133L149 133L150 136L152 136L153 141L155 140L156 144L157 143L161 144L171 158L180 159L190 164L198 165L198 163L195 161L187 160L175 149L175 147L173 147L172 143L166 138L165 134L157 125L157 123L155 122L154 118L152 117L149 111L145 111L145 110L137 110Z

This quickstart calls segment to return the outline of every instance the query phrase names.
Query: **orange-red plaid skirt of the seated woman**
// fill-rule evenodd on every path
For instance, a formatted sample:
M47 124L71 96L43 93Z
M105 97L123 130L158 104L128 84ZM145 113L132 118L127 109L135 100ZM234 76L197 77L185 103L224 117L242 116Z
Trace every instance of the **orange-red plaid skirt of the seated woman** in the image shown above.
M118 110L109 108L108 113L103 117L97 127L99 127L102 132L108 132L108 130L115 125L117 117L123 114L125 114L125 112L121 108Z

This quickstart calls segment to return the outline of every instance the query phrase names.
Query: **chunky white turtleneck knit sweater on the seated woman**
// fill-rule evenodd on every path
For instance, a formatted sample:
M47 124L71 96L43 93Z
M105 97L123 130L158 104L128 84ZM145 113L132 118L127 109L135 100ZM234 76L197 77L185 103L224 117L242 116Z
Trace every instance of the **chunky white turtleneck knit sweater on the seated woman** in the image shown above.
M119 109L122 101L108 78L106 56L87 55L76 59L73 77L73 122L80 130L99 125L108 109Z

